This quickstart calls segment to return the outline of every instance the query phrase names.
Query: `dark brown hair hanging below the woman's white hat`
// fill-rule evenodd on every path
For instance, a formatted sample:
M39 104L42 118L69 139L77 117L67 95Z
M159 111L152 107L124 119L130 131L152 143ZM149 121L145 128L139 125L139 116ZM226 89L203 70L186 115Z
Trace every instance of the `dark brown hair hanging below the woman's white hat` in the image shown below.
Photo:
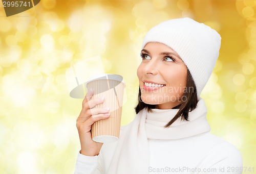
M190 90L192 89L192 90ZM197 89L195 82L191 76L191 73L187 69L187 82L186 82L186 90L183 93L183 96L185 97L186 100L182 104L175 106L172 109L179 109L178 113L175 115L175 117L170 120L167 125L165 125L165 128L170 127L174 121L176 121L179 117L181 117L181 120L188 120L188 113L190 111L193 111L197 107L198 99L197 99ZM135 107L136 114L138 114L142 109L146 108L148 112L152 112L152 109L155 109L156 105L150 105L150 104L145 104L141 100L141 91L139 88L139 95L138 95L138 105Z

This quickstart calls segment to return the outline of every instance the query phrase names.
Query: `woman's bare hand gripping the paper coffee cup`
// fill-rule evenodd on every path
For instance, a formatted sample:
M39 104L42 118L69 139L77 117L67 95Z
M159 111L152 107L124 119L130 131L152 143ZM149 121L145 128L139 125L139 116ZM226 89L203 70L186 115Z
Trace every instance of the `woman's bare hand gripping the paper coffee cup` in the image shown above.
M92 140L91 128L94 122L100 119L110 117L110 108L94 108L98 104L104 102L104 98L94 98L93 91L90 90L82 101L82 110L76 120L76 127L78 130L81 151L80 154L86 156L96 156L99 154L103 143Z

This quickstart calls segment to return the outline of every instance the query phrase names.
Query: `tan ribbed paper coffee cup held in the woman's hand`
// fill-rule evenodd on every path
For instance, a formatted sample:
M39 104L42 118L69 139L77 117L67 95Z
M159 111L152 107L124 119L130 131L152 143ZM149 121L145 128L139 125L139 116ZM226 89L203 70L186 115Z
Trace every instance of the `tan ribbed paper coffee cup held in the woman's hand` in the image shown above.
M95 108L110 108L110 117L96 121L92 125L92 139L96 142L114 142L118 140L121 126L123 91L125 83L122 76L117 74L100 74L91 78L87 83L88 90L92 89L92 98L104 97L103 104Z

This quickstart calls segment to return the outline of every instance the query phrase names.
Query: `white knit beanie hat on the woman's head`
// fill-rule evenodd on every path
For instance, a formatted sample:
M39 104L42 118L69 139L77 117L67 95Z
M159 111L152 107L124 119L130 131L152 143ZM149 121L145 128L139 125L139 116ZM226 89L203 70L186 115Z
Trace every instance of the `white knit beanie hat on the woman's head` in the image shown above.
M190 71L199 98L219 57L219 33L186 17L167 20L153 27L142 42L142 49L148 42L164 43L174 49Z

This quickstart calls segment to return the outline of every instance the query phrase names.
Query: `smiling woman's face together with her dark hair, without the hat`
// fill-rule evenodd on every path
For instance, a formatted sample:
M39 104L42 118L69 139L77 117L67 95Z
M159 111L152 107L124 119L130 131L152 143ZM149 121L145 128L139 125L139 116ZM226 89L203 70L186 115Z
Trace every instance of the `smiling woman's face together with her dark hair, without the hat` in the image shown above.
M153 54L156 54L154 60L151 58ZM197 106L197 90L180 56L163 43L149 42L142 49L141 57L142 62L137 69L140 89L136 113L144 108L150 112L152 109L179 109L165 127L172 125L179 117L188 121L188 112ZM153 78L162 83L155 82Z

